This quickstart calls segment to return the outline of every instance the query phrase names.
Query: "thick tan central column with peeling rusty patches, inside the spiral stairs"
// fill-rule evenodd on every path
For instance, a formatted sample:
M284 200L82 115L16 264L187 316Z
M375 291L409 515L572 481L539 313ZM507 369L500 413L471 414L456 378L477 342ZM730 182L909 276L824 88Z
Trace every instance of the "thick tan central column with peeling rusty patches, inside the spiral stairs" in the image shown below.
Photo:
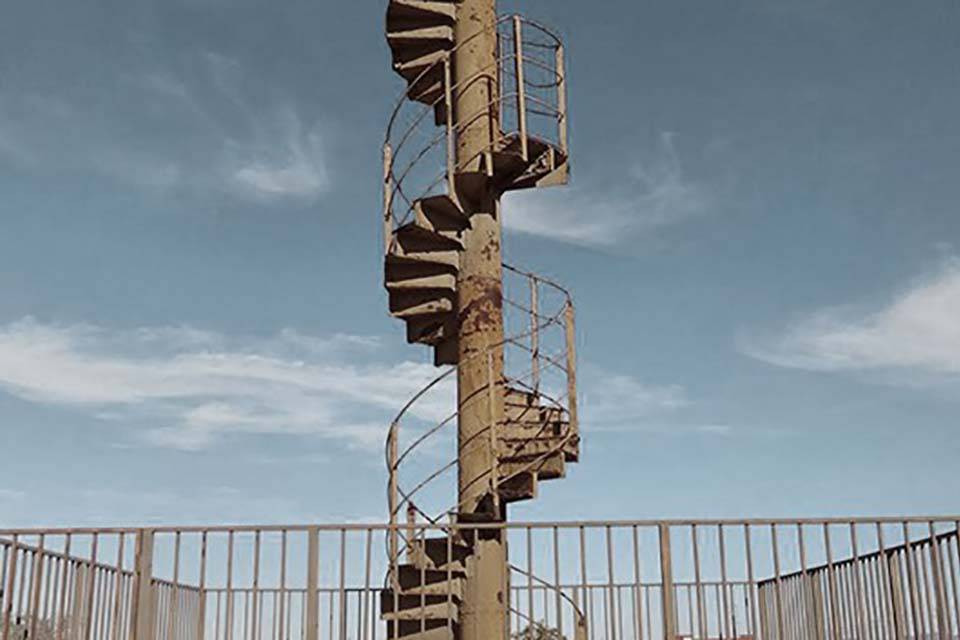
M503 419L503 267L500 206L485 173L499 133L495 0L458 5L453 57L457 193L470 214L457 282L459 319L459 512L502 521L492 490L492 429ZM476 516L468 518L468 516ZM461 638L505 640L509 598L503 533L478 532L467 560Z

